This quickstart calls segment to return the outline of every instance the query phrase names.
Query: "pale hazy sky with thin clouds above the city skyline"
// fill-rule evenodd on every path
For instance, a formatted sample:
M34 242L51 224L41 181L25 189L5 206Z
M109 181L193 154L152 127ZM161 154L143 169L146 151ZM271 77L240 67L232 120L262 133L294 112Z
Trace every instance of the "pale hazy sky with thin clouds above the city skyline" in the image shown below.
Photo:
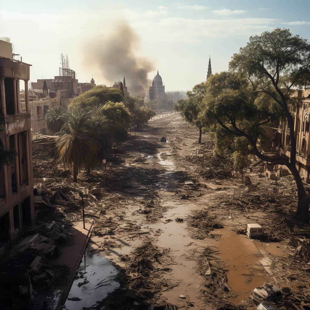
M104 76L100 64L90 66L87 59L97 57L113 33L118 35L117 25L128 23L136 34L133 60L143 58L142 64L146 60L153 64L148 74L151 79L158 68L167 91L188 90L205 80L209 55L213 73L227 70L230 57L251 35L280 27L310 39L309 0L156 3L2 0L0 37L11 38L15 53L32 64L32 81L58 75L63 53L79 82L89 82L93 75L96 84L109 86L122 75Z

